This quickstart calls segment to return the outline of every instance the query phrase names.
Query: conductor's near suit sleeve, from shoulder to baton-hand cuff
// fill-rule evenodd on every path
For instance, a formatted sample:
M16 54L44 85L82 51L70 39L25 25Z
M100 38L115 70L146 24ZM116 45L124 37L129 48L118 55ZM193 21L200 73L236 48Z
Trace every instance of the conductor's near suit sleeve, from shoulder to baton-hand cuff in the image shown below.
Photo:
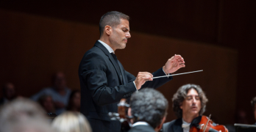
M118 102L136 91L133 82L119 85L118 77L115 78L115 72L107 69L110 63L106 61L109 60L99 54L90 53L84 56L79 67L79 76L83 84L99 106Z

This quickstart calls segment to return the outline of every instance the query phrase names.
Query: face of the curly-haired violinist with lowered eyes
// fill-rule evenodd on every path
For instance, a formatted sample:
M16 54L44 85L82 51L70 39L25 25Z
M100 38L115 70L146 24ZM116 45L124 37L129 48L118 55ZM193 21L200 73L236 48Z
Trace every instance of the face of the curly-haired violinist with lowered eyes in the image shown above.
M198 117L201 110L201 100L196 89L189 89L186 98L183 100L182 105L183 116Z

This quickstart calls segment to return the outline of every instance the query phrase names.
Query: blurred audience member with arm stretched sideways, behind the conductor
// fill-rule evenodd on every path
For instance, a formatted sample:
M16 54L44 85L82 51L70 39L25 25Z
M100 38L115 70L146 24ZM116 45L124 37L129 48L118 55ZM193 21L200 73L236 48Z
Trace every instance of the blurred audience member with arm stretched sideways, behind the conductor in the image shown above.
M32 96L32 100L37 101L42 95L50 95L54 101L56 114L61 114L65 111L68 105L68 98L71 90L66 86L65 74L58 72L53 76L53 86L42 89L40 92Z

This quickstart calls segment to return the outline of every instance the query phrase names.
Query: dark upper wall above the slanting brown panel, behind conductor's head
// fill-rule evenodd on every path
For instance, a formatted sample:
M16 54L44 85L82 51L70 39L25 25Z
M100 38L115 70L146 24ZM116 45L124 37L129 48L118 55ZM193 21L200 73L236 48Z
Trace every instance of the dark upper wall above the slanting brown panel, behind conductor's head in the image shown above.
M197 1L32 1L1 0L0 9L28 12L82 23L99 23L110 11L131 18L131 30L216 43L219 4L216 0Z

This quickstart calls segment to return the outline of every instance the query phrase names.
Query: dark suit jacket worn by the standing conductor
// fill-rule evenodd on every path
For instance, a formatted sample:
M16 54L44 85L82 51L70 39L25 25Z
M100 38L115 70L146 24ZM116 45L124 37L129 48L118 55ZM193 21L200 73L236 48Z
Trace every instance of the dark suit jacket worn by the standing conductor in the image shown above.
M120 70L118 70L118 65ZM164 76L162 68L153 76ZM122 79L121 79L122 76ZM147 81L143 87L157 88L172 78L157 78ZM123 82L121 82L123 80ZM110 120L108 113L117 112L118 101L129 98L136 91L135 76L116 64L107 48L96 41L93 48L85 53L79 65L81 87L81 113L88 118L93 132L120 132L121 123Z

